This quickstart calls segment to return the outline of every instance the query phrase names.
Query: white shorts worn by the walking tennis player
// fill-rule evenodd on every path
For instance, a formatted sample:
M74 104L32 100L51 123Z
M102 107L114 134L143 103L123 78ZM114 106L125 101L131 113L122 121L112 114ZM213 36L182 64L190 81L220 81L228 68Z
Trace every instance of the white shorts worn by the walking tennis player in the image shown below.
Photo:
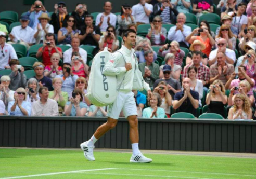
M116 101L108 107L107 116L113 119L118 119L122 110L125 118L132 115L138 115L133 97L134 93L132 91L129 93L122 93L119 91Z

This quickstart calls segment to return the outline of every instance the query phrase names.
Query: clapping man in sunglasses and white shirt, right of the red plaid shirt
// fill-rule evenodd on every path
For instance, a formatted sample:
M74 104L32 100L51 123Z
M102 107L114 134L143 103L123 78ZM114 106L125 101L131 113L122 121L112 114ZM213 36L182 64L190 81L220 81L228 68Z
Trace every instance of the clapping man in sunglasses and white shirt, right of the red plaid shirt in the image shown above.
M209 60L208 60L209 66L217 63L217 53L219 52L225 53L226 55L225 62L233 65L236 62L236 53L234 50L227 48L227 40L225 38L221 38L217 45L218 45L218 48L211 51L209 55Z

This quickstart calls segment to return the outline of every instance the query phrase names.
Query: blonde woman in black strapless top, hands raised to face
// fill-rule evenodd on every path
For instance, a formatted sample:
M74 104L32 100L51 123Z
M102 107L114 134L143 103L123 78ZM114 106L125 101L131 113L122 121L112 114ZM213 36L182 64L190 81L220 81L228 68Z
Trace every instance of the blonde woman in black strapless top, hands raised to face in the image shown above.
M215 80L210 85L209 90L210 92L206 96L206 104L208 105L207 113L220 114L225 118L227 96L225 95L223 83L220 80Z

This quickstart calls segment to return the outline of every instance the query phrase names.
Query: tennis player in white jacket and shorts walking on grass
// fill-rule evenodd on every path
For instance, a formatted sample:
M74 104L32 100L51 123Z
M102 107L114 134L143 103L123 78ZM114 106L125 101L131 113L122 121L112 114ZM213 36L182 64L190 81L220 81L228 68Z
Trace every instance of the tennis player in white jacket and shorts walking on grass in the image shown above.
M112 54L111 60L106 63L103 71L105 75L117 76L117 86L121 85L117 99L108 107L107 122L96 130L90 140L82 143L80 146L88 160L95 160L93 155L94 143L117 125L120 112L123 111L130 124L130 140L133 149L130 162L149 163L152 159L145 157L139 152L137 109L133 98L134 93L132 92L135 65L138 68L138 61L134 55L135 50L132 49L136 43L136 32L131 29L125 30L123 32L123 40L124 46ZM143 81L142 86L148 91L148 99L151 99L152 92L149 85Z

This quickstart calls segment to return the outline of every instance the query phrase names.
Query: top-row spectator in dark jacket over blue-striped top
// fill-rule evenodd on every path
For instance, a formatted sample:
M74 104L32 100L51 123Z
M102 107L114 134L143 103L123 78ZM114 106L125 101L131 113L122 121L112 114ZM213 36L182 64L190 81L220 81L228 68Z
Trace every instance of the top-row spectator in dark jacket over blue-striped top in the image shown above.
M175 24L178 11L170 0L163 0L154 6L153 15L160 16L164 24Z

